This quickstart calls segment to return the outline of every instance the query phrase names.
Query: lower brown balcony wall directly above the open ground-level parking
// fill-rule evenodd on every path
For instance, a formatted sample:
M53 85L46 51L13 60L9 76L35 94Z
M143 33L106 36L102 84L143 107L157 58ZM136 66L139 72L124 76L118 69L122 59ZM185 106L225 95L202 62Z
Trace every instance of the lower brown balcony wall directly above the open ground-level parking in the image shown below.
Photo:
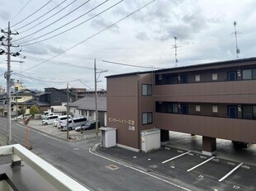
M256 143L256 120L154 113L154 127L170 131Z

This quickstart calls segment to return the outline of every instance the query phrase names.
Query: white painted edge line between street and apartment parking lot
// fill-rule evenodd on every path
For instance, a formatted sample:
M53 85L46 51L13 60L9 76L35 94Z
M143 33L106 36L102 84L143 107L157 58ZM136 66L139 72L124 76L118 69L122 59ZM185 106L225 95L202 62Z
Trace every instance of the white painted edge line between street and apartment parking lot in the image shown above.
M168 181L168 180L166 180L166 179L161 179L161 178L159 178L158 176L150 175L149 173L147 173L147 172L145 172L145 171L143 171L143 170L136 169L135 167L132 167L132 166L130 166L130 165L125 165L125 164L123 164L123 163L121 163L121 162L119 162L119 161L115 161L115 160L113 160L113 159L107 158L106 156L101 156L101 155L99 155L99 154L97 154L97 153L92 152L92 149L91 149L91 148L89 148L89 152L90 152L92 155L102 157L103 159L106 159L106 160L108 160L108 161L116 162L116 163L119 164L119 165L123 165L123 166L126 166L127 168L130 168L130 169L132 169L132 170L136 170L136 171L138 171L138 172L140 172L140 173L142 173L142 174L149 175L150 177L152 177L152 178L154 178L154 179L159 179L160 181L163 181L163 182L165 182L165 183L167 183L167 184L171 184L171 185L173 185L173 186L175 186L175 187L177 187L177 188L179 188L179 189L183 189L183 190L186 190L186 191L192 191L191 189L187 189L187 188L185 188L185 187L183 187L183 186L180 186L180 185L178 185L178 184L171 183L170 181Z

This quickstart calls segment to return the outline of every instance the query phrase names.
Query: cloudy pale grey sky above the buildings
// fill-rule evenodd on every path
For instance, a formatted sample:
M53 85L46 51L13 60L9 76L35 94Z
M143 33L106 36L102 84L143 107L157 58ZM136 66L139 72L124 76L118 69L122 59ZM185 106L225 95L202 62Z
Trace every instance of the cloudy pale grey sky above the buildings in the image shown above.
M19 33L11 51L21 56L12 60L24 63L11 62L15 81L92 91L94 59L98 89L107 88L106 76L176 67L174 36L178 67L236 59L234 21L239 58L255 57L255 9L253 0L12 0L1 2L0 28L10 21ZM0 55L4 87L6 59Z

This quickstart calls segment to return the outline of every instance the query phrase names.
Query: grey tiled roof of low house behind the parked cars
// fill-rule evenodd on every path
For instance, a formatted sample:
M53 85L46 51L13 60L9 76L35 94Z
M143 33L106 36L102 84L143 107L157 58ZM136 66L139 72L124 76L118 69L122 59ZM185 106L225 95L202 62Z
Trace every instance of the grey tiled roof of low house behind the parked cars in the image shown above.
M70 107L77 107L77 109L95 110L95 96L88 95L73 103L69 104ZM107 98L106 95L99 95L97 98L97 109L100 111L107 111Z

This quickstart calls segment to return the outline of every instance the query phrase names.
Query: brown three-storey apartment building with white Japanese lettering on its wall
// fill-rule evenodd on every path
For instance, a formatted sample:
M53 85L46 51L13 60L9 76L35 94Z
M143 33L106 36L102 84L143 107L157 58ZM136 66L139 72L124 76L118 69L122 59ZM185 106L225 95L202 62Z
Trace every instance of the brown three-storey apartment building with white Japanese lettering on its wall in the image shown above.
M109 76L107 126L134 151L149 128L162 142L168 131L201 135L209 155L216 138L256 143L256 58Z

